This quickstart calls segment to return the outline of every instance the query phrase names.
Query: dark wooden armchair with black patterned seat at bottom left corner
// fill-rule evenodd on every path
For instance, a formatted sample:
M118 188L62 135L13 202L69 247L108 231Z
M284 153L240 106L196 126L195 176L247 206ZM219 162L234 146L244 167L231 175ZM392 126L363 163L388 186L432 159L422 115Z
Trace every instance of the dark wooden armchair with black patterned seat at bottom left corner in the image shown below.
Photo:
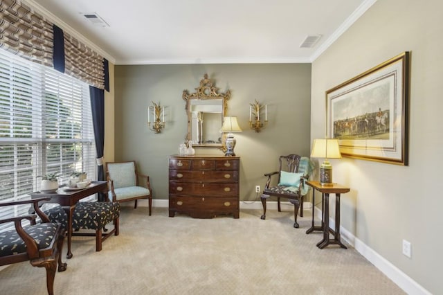
M50 197L29 199L17 202L0 203L0 207L33 204L33 210L37 214L22 215L1 219L0 224L13 223L15 228L0 233L0 266L12 263L29 261L34 267L46 269L46 288L48 294L54 294L55 272L66 270L66 263L62 263L64 232L62 225L49 222L38 204L48 201ZM42 220L37 224L37 215ZM30 225L23 226L22 222L28 220ZM26 278L23 278L24 283ZM35 282L29 282L35 284Z

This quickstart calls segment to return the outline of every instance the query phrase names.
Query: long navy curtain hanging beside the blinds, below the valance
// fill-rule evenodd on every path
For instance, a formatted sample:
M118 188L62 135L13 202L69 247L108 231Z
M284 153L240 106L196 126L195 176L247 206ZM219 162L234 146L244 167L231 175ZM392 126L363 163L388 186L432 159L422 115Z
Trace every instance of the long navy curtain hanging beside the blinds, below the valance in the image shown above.
M105 90L89 86L91 96L92 123L94 127L94 137L96 138L97 180L105 180L103 169L103 150L105 147ZM100 193L99 201L104 201L104 196Z

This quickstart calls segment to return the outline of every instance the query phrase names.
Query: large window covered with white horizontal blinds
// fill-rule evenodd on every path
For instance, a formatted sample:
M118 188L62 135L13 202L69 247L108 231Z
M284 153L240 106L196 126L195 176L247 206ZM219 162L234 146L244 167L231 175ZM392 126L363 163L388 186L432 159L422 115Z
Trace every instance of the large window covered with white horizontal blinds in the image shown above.
M0 49L0 202L38 191L39 175L59 172L61 185L73 171L96 179L88 85ZM21 213L10 210L0 217Z

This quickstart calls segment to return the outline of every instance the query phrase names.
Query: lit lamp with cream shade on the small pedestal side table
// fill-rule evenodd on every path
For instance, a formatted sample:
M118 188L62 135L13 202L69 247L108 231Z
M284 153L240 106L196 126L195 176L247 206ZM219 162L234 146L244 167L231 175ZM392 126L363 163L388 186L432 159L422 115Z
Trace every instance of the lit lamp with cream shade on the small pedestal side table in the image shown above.
M325 158L320 166L320 184L322 186L332 186L332 165L327 159L341 158L338 140L332 138L314 139L311 157Z

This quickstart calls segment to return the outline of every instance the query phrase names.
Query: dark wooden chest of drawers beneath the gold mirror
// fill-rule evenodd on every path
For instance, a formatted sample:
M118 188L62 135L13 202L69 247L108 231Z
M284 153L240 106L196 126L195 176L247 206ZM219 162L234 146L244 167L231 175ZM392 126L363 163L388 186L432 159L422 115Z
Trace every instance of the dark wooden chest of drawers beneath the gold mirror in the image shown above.
M239 157L171 156L169 216L239 218Z

